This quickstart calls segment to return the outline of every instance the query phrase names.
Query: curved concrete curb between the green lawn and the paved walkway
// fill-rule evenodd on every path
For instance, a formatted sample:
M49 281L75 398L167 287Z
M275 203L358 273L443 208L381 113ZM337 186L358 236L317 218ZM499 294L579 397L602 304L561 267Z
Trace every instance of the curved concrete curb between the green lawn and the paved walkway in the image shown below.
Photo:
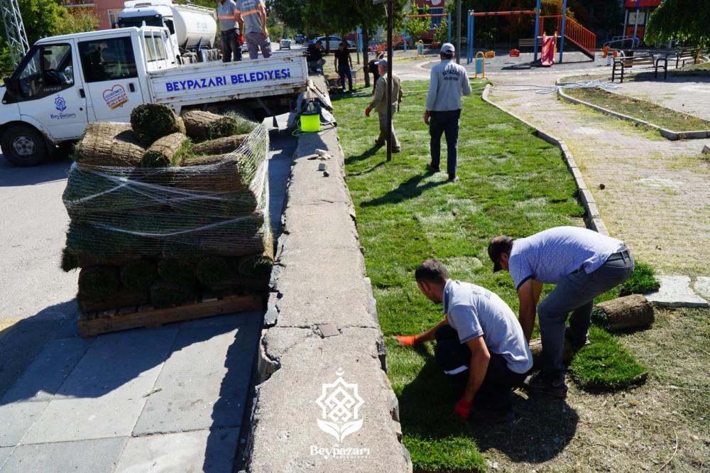
M486 85L486 88L484 89L483 94L481 94L481 98L484 99L484 102L487 102L488 104L493 105L493 107L496 107L497 109L501 109L503 112L506 112L506 114L513 116L513 118L518 119L519 121L522 121L524 124L530 126L530 128L535 130L535 134L542 138L543 140L547 141L547 143L551 143L555 146L559 146L559 148L562 150L562 156L564 158L564 163L567 164L567 169L569 170L569 173L572 174L572 177L574 178L574 182L577 183L577 192L578 192L578 197L579 200L584 207L584 210L586 211L586 225L590 229L599 232L604 235L609 234L609 230L606 227L606 224L604 223L603 219L601 219L601 215L599 214L599 207L596 205L596 200L594 200L594 195L591 195L591 192L589 191L589 187L587 187L586 183L584 182L584 178L581 175L581 172L579 168L577 167L577 163L574 161L574 157L572 156L572 152L569 151L569 148L567 148L567 144L562 141L561 138L557 138L556 136L552 136L550 134L545 133L545 131L542 131L537 128L537 126L531 124L529 121L523 119L523 117L518 116L514 114L513 112L510 112L510 110L506 109L500 104L496 104L496 102L491 101L488 99L488 94L490 93L491 85L488 84Z

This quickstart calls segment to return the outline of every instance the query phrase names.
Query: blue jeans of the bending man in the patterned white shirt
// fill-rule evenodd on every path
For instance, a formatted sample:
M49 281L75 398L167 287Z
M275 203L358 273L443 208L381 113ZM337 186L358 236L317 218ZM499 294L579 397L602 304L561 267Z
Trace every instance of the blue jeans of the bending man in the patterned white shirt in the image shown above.
M542 339L542 371L547 379L564 381L564 323L569 312L572 312L569 335L575 340L586 340L594 298L626 281L633 268L633 257L628 250L615 253L592 273L578 269L562 278L537 306Z

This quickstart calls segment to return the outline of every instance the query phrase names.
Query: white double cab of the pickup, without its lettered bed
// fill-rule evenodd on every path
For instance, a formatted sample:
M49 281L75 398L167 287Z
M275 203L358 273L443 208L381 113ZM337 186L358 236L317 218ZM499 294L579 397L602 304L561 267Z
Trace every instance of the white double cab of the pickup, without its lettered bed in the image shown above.
M39 40L0 87L7 161L37 165L89 121L129 121L148 99L146 76L174 67L165 28L125 28Z

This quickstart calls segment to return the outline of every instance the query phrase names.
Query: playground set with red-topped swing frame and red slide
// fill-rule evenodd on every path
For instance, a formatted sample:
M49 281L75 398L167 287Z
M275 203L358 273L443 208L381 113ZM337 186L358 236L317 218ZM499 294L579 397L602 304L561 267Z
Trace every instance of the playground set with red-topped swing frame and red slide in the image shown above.
M540 40L543 40L542 53L545 55L545 66L552 65L550 50L552 56L555 55L555 43L559 32L559 60L562 62L564 53L564 41L568 40L579 48L581 53L584 53L591 60L595 57L596 35L588 29L581 26L577 21L567 15L567 0L562 0L562 15L540 15L541 0L536 0L535 10L518 10L518 11L474 11L468 12L468 28L466 28L466 64L471 64L474 59L474 33L475 33L475 18L476 16L510 16L510 15L535 15L534 43L533 43L533 58L532 62L537 62L537 51L540 48ZM545 20L552 19L557 21L555 35L545 37ZM548 23L549 24L549 23ZM552 44L546 43L552 38ZM545 46L547 44L547 46ZM550 49L550 45L552 49ZM542 58L541 58L542 59Z

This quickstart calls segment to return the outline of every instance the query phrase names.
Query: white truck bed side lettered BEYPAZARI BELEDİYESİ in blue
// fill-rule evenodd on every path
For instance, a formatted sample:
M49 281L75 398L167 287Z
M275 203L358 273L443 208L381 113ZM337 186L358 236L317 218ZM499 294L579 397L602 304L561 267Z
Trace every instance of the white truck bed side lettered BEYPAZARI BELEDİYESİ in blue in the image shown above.
M271 58L237 62L198 62L148 73L153 102L175 108L305 92L305 53L275 52Z

